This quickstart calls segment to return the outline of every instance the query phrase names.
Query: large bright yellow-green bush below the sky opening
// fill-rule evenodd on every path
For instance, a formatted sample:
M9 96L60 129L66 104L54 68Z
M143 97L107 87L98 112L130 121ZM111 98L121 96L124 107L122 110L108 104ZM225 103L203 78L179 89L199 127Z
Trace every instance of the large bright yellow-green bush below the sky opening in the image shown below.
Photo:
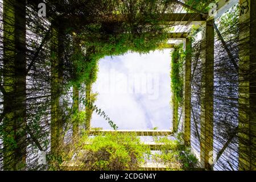
M113 171L138 170L150 150L135 135L107 134L88 141L77 156L80 169Z

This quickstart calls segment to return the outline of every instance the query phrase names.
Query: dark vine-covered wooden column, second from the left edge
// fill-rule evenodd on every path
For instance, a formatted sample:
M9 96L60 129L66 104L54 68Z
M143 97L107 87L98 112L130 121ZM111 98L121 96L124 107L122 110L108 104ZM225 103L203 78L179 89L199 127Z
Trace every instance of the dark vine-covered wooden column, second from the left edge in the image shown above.
M63 142L61 94L63 82L63 32L53 26L51 38L51 153L58 154Z

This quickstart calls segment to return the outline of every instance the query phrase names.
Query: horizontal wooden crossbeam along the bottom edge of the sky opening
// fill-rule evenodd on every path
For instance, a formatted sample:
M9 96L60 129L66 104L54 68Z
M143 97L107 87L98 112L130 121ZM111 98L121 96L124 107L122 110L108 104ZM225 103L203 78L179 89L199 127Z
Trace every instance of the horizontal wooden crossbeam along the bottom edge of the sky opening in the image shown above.
M105 135L107 133L135 134L137 136L168 136L171 130L90 130L92 135Z

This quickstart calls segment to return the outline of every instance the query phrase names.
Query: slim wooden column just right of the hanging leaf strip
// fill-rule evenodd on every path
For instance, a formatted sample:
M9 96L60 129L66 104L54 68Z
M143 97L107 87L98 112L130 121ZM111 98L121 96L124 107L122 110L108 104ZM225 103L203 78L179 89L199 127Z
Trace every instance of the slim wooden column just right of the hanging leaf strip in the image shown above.
M191 144L191 49L192 40L185 39L185 64L184 64L184 88L183 88L183 121L184 142L186 146Z

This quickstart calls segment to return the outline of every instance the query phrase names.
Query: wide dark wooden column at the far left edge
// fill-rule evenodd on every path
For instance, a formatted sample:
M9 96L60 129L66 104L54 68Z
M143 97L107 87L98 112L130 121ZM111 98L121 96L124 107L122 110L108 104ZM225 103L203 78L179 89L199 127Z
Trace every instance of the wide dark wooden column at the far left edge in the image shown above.
M3 1L3 168L26 167L26 1Z

